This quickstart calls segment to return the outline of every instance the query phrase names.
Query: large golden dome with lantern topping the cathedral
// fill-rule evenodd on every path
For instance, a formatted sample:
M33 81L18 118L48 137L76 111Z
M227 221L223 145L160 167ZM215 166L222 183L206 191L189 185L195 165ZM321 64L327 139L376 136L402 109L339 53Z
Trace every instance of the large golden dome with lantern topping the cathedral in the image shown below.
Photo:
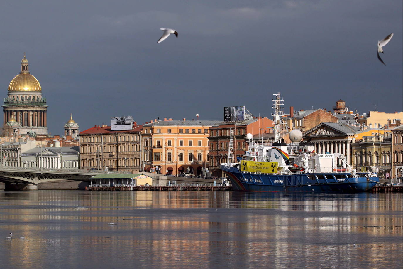
M16 75L10 85L8 85L8 92L41 92L41 84L39 81L30 74L28 60L25 57L21 60L21 71Z

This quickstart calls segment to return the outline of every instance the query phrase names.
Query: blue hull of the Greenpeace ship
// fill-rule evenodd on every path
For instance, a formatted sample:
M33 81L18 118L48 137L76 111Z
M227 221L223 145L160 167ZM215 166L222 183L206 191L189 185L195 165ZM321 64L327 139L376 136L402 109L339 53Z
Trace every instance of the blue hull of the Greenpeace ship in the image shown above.
M224 165L220 169L234 190L245 192L366 192L379 182L378 177L366 177L365 173L358 173L361 177L351 177L351 173L271 175L244 173Z

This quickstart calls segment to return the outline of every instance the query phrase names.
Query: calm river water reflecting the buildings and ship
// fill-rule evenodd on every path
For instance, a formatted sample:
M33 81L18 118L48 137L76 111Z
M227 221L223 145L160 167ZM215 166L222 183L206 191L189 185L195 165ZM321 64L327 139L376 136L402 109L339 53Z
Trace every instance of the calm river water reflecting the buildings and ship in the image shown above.
M395 193L2 191L0 267L402 268L402 203Z

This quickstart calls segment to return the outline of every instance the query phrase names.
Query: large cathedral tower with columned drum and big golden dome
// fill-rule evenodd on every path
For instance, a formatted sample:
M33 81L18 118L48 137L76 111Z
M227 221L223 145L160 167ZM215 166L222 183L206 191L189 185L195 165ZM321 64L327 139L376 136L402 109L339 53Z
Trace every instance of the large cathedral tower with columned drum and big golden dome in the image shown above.
M21 60L21 71L8 85L8 96L4 98L3 126L13 123L13 129L18 125L18 133L35 132L37 135L47 135L46 98L42 98L42 88L39 81L30 74L28 60Z

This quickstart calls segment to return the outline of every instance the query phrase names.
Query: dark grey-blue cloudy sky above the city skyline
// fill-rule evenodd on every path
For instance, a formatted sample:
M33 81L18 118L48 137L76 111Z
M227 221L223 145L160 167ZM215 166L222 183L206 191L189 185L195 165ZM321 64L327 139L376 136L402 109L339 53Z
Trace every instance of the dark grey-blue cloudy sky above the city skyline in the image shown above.
M402 1L8 1L0 4L3 98L27 52L48 127L110 117L220 120L224 106L271 114L402 110ZM160 27L175 29L157 44ZM384 47L378 40L395 35Z

